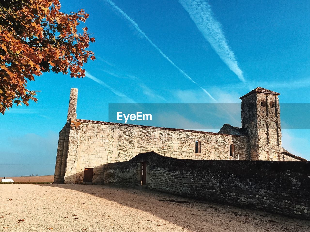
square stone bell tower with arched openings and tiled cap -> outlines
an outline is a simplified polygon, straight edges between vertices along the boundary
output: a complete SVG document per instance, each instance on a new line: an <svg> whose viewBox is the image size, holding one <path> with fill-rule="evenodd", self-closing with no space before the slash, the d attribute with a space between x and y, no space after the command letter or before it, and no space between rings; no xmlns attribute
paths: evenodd
<svg viewBox="0 0 310 232"><path fill-rule="evenodd" d="M280 160L280 93L257 87L241 99L241 123L249 135L252 160Z"/></svg>

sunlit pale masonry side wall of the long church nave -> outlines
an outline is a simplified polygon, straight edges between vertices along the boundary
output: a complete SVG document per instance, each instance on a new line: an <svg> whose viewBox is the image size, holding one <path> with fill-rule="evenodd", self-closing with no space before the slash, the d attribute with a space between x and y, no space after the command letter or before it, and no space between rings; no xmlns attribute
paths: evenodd
<svg viewBox="0 0 310 232"><path fill-rule="evenodd" d="M93 168L93 183L101 183L103 164L128 161L139 153L149 151L181 159L228 160L232 159L229 156L229 145L234 144L235 154L239 155L240 159L245 159L244 136L165 130L108 122L89 123L87 120L79 119L77 122L80 123L77 128L79 141L76 148L76 164L72 163L76 166L74 171L69 173L70 181L75 179L73 183L83 182L85 168ZM196 140L201 141L201 153L195 153Z"/></svg>

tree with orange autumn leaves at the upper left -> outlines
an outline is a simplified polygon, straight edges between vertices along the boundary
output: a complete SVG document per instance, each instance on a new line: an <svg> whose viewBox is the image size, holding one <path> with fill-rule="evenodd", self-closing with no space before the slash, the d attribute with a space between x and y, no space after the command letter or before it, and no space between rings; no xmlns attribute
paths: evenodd
<svg viewBox="0 0 310 232"><path fill-rule="evenodd" d="M66 14L58 0L0 1L0 112L16 105L37 101L27 83L43 72L85 76L83 64L95 59L86 50L90 38L84 10Z"/></svg>

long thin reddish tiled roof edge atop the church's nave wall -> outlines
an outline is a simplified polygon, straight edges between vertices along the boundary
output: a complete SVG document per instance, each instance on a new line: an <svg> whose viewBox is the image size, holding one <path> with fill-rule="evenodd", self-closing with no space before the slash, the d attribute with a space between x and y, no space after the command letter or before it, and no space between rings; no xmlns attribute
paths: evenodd
<svg viewBox="0 0 310 232"><path fill-rule="evenodd" d="M193 131L193 130L185 130L185 129L177 129L177 128L152 127L152 126L142 126L142 125L125 124L125 123L116 123L116 122L93 121L93 120L86 120L86 119L77 119L77 121L78 121L78 122L84 122L84 123L99 124L99 125L116 125L116 126L125 126L125 127L140 127L140 128L150 128L150 129L167 130L167 131L184 131L184 132L192 132L192 133L199 133L199 134L224 135L224 136L238 136L238 137L243 137L243 136L241 136L241 135L219 134L219 133L207 132L207 131Z"/></svg>

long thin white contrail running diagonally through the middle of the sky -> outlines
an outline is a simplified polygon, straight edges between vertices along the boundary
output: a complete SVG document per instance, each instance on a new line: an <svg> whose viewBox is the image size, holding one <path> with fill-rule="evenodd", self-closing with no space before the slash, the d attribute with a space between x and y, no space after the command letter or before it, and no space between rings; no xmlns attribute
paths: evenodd
<svg viewBox="0 0 310 232"><path fill-rule="evenodd" d="M206 91L206 89L202 88L200 85L198 85L190 76L188 76L182 69L180 69L174 62L172 62L172 60L170 60L169 57L166 56L166 54L164 54L162 52L161 49L159 49L148 37L147 35L139 28L139 25L133 20L131 19L124 11L122 11L121 8L119 8L118 6L116 6L114 4L114 2L112 2L111 0L104 0L106 2L108 2L115 10L117 10L119 13L121 13L134 27L135 29L141 34L143 35L148 42L160 53L162 54L162 56L164 58L166 58L166 60L168 60L175 68L177 68L179 70L180 73L182 73L184 76L186 76L190 81L192 81L194 84L196 84L199 88L201 88L203 90L203 92L205 92L213 101L216 101L214 97L211 96L211 94Z"/></svg>

